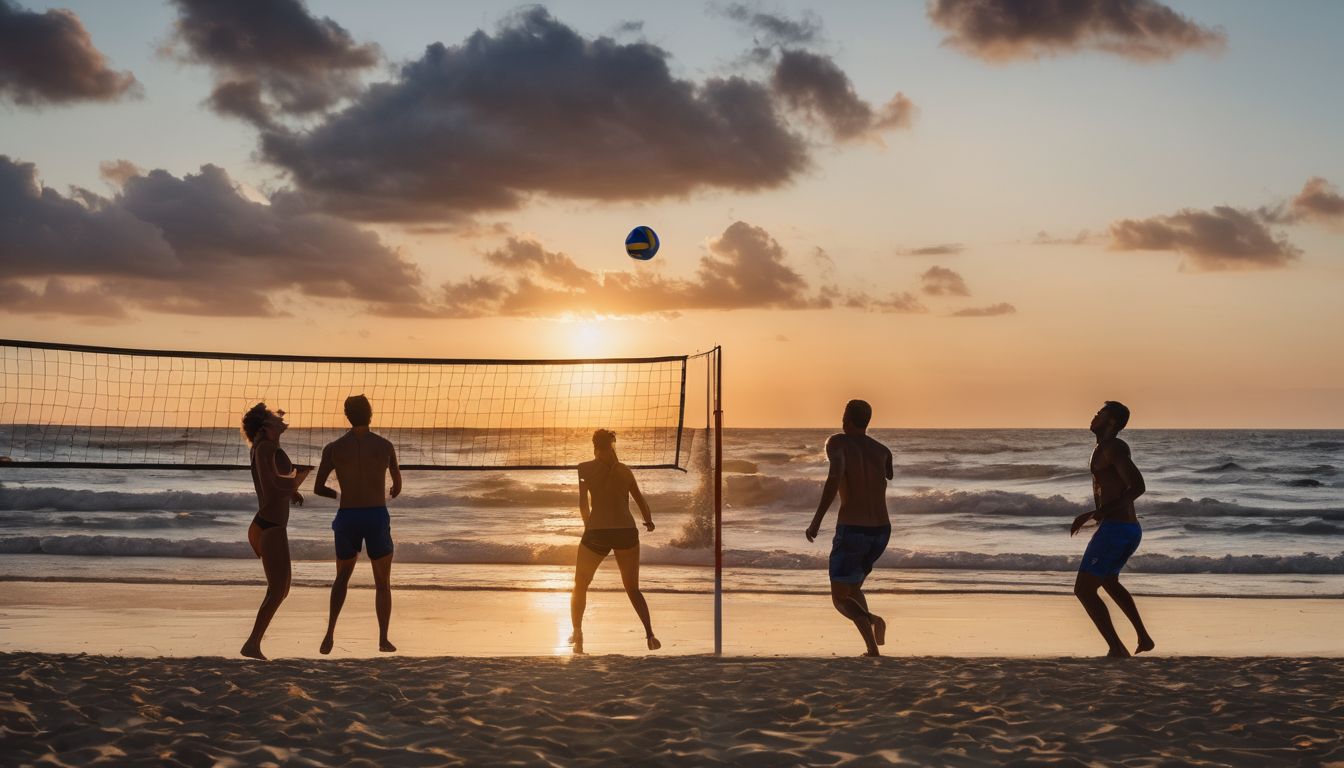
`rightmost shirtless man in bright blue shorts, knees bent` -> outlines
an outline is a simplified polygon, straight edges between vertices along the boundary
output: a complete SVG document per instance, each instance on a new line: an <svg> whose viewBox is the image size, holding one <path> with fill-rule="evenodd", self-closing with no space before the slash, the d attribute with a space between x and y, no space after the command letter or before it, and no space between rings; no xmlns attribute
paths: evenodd
<svg viewBox="0 0 1344 768"><path fill-rule="evenodd" d="M1130 624L1138 632L1138 646L1136 654L1153 650L1153 639L1144 628L1144 620L1138 616L1138 607L1134 605L1133 596L1120 584L1120 569L1125 568L1129 555L1138 549L1138 542L1144 538L1144 531L1138 526L1138 516L1134 515L1134 499L1144 495L1144 476L1134 467L1129 457L1129 445L1117 437L1121 429L1129 424L1129 409L1124 405L1106 401L1097 416L1093 417L1090 429L1097 436L1097 449L1093 451L1093 499L1097 508L1074 518L1074 525L1068 535L1074 535L1087 525L1097 521L1097 531L1087 542L1083 561L1078 566L1078 580L1074 582L1074 594L1087 609L1087 616L1101 636L1110 646L1107 656L1128 656L1129 651L1121 644L1116 633L1116 625L1110 621L1110 611L1102 603L1097 589L1105 589L1106 594L1116 601L1116 605L1125 613Z"/></svg>

